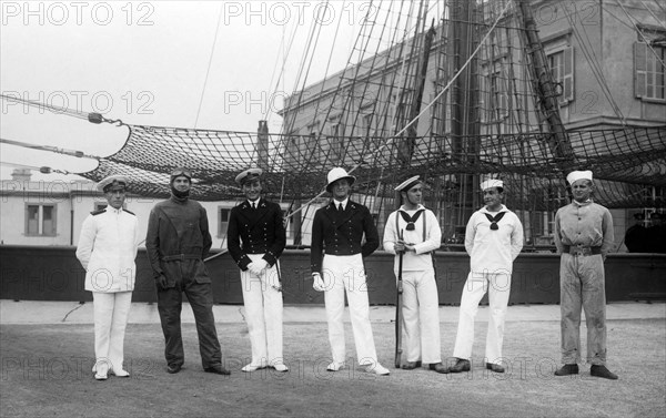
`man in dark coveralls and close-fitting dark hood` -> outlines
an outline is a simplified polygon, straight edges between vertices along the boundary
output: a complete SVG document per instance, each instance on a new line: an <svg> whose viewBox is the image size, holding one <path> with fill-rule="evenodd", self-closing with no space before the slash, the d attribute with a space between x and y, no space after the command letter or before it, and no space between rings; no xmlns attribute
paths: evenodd
<svg viewBox="0 0 666 418"><path fill-rule="evenodd" d="M167 371L179 373L184 363L181 336L182 293L194 313L203 369L229 375L222 366L222 353L215 318L213 290L203 264L212 245L206 212L192 201L192 173L175 169L171 173L171 198L159 202L150 213L145 249L158 287L158 310L164 333Z"/></svg>

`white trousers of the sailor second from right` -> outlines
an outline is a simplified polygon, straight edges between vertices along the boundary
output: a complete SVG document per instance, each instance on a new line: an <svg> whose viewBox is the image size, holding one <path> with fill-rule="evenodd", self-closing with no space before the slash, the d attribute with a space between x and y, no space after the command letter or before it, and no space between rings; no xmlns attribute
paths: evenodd
<svg viewBox="0 0 666 418"><path fill-rule="evenodd" d="M467 275L461 298L458 329L453 356L466 360L472 358L474 318L478 312L478 303L486 292L488 293L491 312L488 315L485 358L487 363L501 364L504 319L511 294L511 275L507 273L470 272Z"/></svg>

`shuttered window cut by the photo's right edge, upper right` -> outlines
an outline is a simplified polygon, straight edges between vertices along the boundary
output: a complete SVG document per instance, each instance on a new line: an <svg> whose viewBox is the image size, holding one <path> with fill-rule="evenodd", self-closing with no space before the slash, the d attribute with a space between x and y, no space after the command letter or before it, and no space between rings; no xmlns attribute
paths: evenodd
<svg viewBox="0 0 666 418"><path fill-rule="evenodd" d="M666 48L647 45L644 42L634 44L634 91L636 98L648 100L665 100Z"/></svg>

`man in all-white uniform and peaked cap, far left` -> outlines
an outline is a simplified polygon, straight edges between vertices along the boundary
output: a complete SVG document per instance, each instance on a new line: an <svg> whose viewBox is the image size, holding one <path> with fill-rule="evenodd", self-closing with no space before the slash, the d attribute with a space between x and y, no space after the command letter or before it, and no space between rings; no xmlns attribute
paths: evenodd
<svg viewBox="0 0 666 418"><path fill-rule="evenodd" d="M92 212L81 228L77 258L85 268L85 290L92 292L94 315L94 378L105 380L123 369L124 333L132 303L139 246L137 216L122 207L128 179L113 175L98 190L109 205Z"/></svg>

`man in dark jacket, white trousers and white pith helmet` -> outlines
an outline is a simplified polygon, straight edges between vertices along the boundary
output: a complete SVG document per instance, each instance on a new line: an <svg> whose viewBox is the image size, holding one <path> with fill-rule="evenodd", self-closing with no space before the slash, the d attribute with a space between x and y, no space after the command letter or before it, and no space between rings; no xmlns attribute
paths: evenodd
<svg viewBox="0 0 666 418"><path fill-rule="evenodd" d="M329 341L333 355L333 361L326 369L337 371L345 366L342 315L346 292L359 364L366 366L369 373L389 375L389 369L377 361L363 266L363 257L380 246L380 236L367 207L350 200L355 180L344 169L331 170L326 191L333 194L333 200L316 211L312 223L310 261L313 288L325 290ZM363 236L365 244L362 244Z"/></svg>

